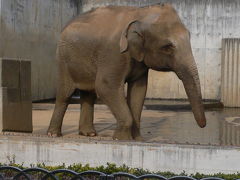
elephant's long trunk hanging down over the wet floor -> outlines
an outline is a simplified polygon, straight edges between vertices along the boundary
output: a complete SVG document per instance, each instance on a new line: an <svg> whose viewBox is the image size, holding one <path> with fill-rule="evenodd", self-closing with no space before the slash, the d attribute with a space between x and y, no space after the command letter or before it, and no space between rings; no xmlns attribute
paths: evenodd
<svg viewBox="0 0 240 180"><path fill-rule="evenodd" d="M206 117L202 103L198 70L195 61L191 60L190 62L190 66L182 68L179 72L176 73L183 82L197 124L201 128L204 128L206 126Z"/></svg>

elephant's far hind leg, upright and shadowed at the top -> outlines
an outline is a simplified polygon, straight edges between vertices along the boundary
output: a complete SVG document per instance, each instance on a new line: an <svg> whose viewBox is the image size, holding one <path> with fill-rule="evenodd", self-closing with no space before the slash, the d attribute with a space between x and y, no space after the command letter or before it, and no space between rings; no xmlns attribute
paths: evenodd
<svg viewBox="0 0 240 180"><path fill-rule="evenodd" d="M93 127L94 102L96 94L93 92L81 91L81 114L79 121L79 134L84 136L96 136Z"/></svg>

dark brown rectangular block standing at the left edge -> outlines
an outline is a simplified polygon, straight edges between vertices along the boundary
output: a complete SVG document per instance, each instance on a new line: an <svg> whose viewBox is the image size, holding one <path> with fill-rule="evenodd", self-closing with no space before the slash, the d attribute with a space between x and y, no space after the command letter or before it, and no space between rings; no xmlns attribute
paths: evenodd
<svg viewBox="0 0 240 180"><path fill-rule="evenodd" d="M31 63L0 59L0 131L32 132Z"/></svg>

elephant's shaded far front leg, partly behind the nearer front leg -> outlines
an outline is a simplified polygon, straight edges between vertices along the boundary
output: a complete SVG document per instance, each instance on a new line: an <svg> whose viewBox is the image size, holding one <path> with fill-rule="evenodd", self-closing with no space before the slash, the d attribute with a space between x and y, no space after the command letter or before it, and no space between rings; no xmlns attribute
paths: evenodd
<svg viewBox="0 0 240 180"><path fill-rule="evenodd" d="M127 103L133 116L132 136L138 141L142 140L140 133L140 119L144 98L147 92L147 80L148 73L140 79L128 83Z"/></svg>

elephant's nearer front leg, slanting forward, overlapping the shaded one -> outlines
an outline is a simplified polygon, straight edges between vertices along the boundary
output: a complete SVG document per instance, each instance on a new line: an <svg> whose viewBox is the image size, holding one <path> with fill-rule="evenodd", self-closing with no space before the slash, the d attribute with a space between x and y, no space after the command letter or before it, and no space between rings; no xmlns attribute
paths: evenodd
<svg viewBox="0 0 240 180"><path fill-rule="evenodd" d="M108 85L106 81L96 83L96 91L100 99L108 105L117 119L117 128L113 138L116 140L132 140L132 115L124 95L124 83Z"/></svg>

